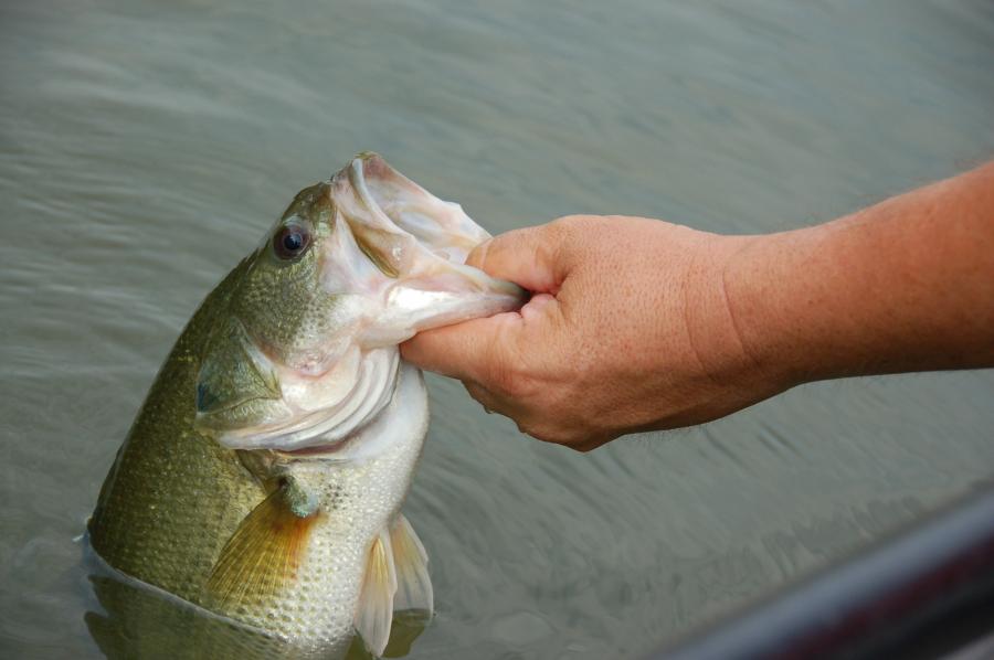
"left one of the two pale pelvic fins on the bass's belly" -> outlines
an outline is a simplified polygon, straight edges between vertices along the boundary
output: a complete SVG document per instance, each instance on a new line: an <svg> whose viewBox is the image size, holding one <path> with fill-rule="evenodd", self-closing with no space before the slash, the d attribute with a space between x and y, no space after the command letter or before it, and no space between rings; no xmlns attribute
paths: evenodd
<svg viewBox="0 0 994 660"><path fill-rule="evenodd" d="M369 546L366 576L362 579L362 592L353 619L356 630L362 637L366 647L377 657L383 654L390 639L394 593L396 593L396 573L393 567L393 552L390 549L390 534L384 529Z"/></svg>

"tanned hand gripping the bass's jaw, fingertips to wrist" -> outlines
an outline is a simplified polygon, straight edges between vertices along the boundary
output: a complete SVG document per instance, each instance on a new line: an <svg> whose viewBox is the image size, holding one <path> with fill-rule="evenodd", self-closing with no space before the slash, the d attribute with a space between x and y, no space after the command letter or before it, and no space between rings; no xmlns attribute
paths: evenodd
<svg viewBox="0 0 994 660"><path fill-rule="evenodd" d="M641 217L569 216L497 236L467 263L533 292L519 312L422 332L414 364L579 450L715 419L789 387L742 345L723 268L752 241Z"/></svg>

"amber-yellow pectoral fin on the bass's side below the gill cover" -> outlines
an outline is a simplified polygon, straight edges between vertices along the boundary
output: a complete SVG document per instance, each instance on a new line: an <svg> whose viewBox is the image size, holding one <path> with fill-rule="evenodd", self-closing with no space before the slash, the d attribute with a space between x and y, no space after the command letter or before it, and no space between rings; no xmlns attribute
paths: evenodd
<svg viewBox="0 0 994 660"><path fill-rule="evenodd" d="M209 602L231 608L278 594L294 579L320 515L297 515L287 486L274 490L231 535L208 579Z"/></svg>

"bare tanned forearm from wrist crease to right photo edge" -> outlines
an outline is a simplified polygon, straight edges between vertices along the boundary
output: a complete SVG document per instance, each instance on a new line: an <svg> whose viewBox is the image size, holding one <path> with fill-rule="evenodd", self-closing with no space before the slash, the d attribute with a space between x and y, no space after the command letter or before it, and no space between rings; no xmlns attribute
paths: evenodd
<svg viewBox="0 0 994 660"><path fill-rule="evenodd" d="M791 384L994 366L994 163L750 241L723 275L744 351Z"/></svg>

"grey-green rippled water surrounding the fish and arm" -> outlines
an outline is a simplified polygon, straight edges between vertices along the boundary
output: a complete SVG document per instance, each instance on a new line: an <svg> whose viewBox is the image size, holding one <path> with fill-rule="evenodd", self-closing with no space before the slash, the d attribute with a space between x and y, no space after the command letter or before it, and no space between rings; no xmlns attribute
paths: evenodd
<svg viewBox="0 0 994 660"><path fill-rule="evenodd" d="M994 152L981 0L22 0L0 61L11 658L101 657L73 539L145 391L353 152L495 233L572 212L775 231ZM412 657L637 657L994 476L990 371L808 385L591 455L430 384L405 511L437 616Z"/></svg>

